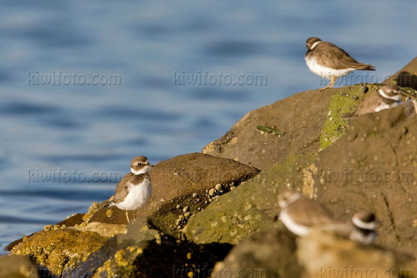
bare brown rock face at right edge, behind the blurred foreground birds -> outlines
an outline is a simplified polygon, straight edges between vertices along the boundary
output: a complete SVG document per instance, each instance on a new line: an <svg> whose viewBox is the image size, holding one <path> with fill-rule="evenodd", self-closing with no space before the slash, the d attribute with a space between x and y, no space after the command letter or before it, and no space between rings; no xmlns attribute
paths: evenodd
<svg viewBox="0 0 417 278"><path fill-rule="evenodd" d="M415 252L417 114L401 105L352 119L345 136L318 156L316 199L336 218L373 211L377 243Z"/></svg>

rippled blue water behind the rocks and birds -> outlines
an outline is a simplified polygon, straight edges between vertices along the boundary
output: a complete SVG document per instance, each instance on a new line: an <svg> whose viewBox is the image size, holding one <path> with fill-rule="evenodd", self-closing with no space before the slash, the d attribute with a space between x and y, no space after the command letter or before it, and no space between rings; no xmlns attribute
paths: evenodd
<svg viewBox="0 0 417 278"><path fill-rule="evenodd" d="M375 77L416 56L414 0L0 1L0 248L110 197L116 181L32 171L129 171L199 152L245 113L322 87L305 40L332 41ZM174 72L264 74L266 85L174 85ZM117 74L120 85L33 85L30 74ZM349 83L349 82L348 82Z"/></svg>

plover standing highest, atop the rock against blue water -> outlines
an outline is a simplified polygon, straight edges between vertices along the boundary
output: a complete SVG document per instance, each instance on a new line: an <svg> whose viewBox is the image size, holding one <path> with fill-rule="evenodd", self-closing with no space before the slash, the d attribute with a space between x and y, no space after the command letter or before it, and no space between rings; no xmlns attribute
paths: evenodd
<svg viewBox="0 0 417 278"><path fill-rule="evenodd" d="M359 63L346 51L330 42L311 37L306 40L305 55L307 67L322 79L329 79L326 88L332 88L339 77L350 74L354 70L375 70L372 65Z"/></svg>

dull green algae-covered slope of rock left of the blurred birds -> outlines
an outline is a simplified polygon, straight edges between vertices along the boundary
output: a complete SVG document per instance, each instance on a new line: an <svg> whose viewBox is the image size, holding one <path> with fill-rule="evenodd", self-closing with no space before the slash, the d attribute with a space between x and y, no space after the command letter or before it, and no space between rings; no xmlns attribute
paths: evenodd
<svg viewBox="0 0 417 278"><path fill-rule="evenodd" d="M315 159L313 154L292 156L261 172L193 215L186 234L199 244L237 244L256 231L277 225L277 195L288 187L303 190L306 172L302 169L308 168Z"/></svg>

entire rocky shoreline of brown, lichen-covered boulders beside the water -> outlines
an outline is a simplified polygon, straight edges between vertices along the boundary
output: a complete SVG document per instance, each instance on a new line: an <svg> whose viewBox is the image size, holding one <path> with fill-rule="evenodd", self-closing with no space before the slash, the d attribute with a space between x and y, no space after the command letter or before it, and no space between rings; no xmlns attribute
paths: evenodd
<svg viewBox="0 0 417 278"><path fill-rule="evenodd" d="M416 99L416 75L414 58L383 84ZM415 277L414 106L341 117L381 86L300 92L247 113L202 153L155 165L152 200L131 222L111 199L94 203L10 243L0 277ZM287 188L340 220L373 211L375 245L324 232L295 238L278 219Z"/></svg>

